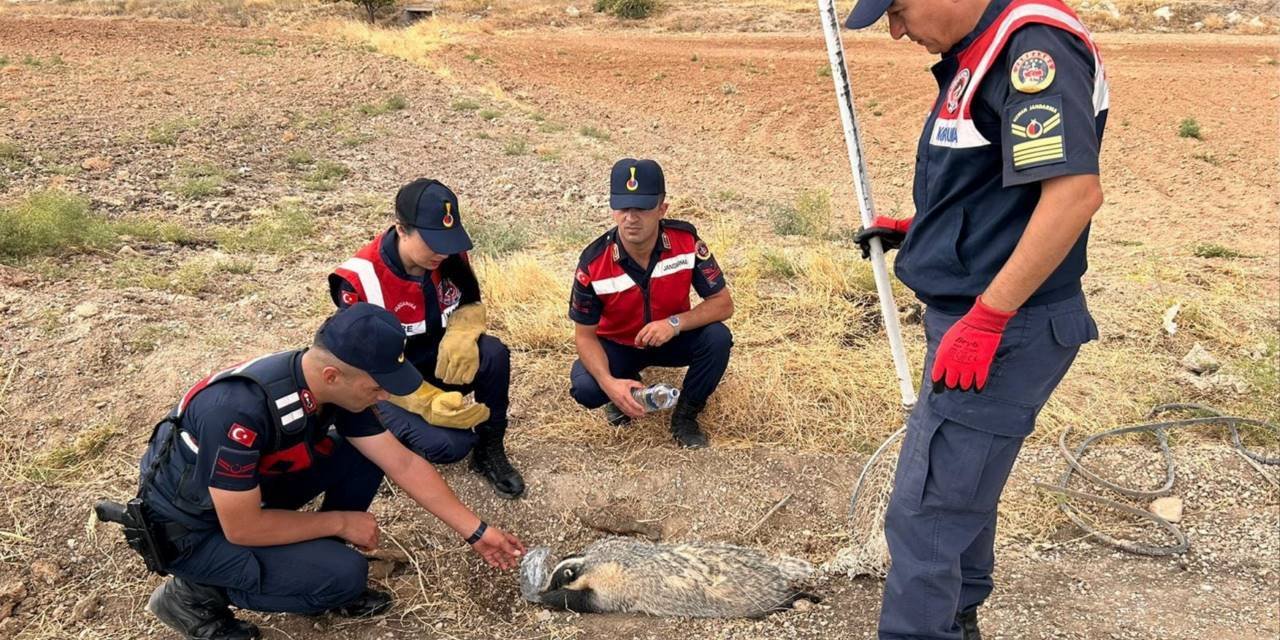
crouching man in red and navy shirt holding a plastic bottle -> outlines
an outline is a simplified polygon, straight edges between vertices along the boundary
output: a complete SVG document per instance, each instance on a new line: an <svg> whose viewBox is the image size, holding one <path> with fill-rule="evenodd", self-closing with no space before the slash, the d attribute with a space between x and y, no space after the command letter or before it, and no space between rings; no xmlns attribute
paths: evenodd
<svg viewBox="0 0 1280 640"><path fill-rule="evenodd" d="M716 390L733 337L724 320L733 300L724 274L694 225L666 220L667 186L653 160L618 160L609 177L617 227L582 251L568 317L579 360L570 393L588 408L604 404L611 425L644 408L631 397L650 366L687 366L671 433L687 448L707 447L698 413ZM690 287L703 298L690 308Z"/></svg>

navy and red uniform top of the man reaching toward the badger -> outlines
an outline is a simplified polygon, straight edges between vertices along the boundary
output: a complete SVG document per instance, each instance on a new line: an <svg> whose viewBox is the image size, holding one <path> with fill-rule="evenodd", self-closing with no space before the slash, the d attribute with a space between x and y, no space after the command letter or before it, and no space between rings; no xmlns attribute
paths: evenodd
<svg viewBox="0 0 1280 640"><path fill-rule="evenodd" d="M196 477L207 479L209 488L247 492L264 480L306 471L320 457L333 453L337 444L330 431L343 438L378 435L385 429L372 410L352 413L333 404L319 407L310 397L302 376L301 358L294 365L294 380L302 398L301 429L285 434L274 424L268 410L266 392L243 378L219 380L187 403L182 431L173 454L195 456ZM276 438L280 442L276 442ZM206 497L201 497L207 499ZM216 513L207 512L216 522Z"/></svg>

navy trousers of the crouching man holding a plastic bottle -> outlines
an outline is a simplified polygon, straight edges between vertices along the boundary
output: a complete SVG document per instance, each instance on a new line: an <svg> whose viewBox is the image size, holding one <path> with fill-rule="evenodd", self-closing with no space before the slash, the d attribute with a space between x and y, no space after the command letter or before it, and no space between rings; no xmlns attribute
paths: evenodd
<svg viewBox="0 0 1280 640"><path fill-rule="evenodd" d="M733 347L733 335L724 323L712 323L698 329L681 332L662 347L637 348L602 339L604 355L609 358L609 374L614 378L640 379L640 371L650 366L687 366L680 399L692 407L703 407L707 398L724 376L728 367L728 352ZM570 396L586 408L603 407L609 402L600 384L582 366L581 360L573 361L570 370Z"/></svg>

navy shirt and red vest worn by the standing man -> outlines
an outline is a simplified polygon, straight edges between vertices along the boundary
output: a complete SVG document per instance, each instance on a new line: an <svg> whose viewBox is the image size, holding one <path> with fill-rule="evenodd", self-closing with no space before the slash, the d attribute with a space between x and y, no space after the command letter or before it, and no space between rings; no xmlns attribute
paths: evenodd
<svg viewBox="0 0 1280 640"><path fill-rule="evenodd" d="M1098 49L1060 0L993 0L933 74L895 273L924 303L959 314L1014 252L1041 180L1098 173L1110 100ZM1088 229L1028 305L1080 291L1087 242Z"/></svg>

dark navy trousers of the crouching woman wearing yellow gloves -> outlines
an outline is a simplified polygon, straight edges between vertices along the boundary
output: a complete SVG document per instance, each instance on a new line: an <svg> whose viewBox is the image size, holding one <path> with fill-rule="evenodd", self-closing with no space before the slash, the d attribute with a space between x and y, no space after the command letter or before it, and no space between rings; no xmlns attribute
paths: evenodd
<svg viewBox="0 0 1280 640"><path fill-rule="evenodd" d="M410 451L422 456L429 462L448 465L457 462L471 452L476 443L476 433L493 430L497 434L507 431L507 406L511 390L511 351L493 335L480 335L480 367L468 384L444 384L435 378L436 349L422 353L415 362L428 384L447 392L460 392L463 396L475 392L475 401L489 407L489 420L471 429L448 429L428 422L422 416L406 411L390 402L379 402L378 417L388 431L396 435ZM439 344L436 344L439 347Z"/></svg>

